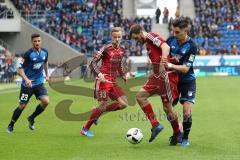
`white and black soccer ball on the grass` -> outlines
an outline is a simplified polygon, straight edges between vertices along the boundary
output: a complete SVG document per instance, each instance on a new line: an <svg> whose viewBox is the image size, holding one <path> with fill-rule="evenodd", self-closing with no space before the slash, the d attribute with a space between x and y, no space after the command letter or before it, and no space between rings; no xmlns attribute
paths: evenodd
<svg viewBox="0 0 240 160"><path fill-rule="evenodd" d="M138 128L131 128L127 131L126 138L132 144L138 144L143 139L143 134Z"/></svg>

